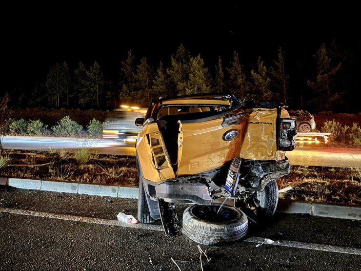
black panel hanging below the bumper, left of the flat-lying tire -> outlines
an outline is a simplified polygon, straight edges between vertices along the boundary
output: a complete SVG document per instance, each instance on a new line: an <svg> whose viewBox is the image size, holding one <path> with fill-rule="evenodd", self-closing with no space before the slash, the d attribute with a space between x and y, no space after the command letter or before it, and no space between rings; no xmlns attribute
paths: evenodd
<svg viewBox="0 0 361 271"><path fill-rule="evenodd" d="M158 207L165 235L167 237L176 237L181 235L180 222L178 220L174 203L165 202L160 199L158 201Z"/></svg>

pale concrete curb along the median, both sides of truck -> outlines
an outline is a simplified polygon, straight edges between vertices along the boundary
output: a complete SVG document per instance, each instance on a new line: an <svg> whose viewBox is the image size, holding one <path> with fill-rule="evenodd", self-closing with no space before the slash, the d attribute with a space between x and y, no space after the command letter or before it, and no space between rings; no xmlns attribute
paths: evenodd
<svg viewBox="0 0 361 271"><path fill-rule="evenodd" d="M118 198L138 198L138 188L123 186L102 186L45 180L30 180L0 177L0 185L22 189L108 196ZM278 212L306 213L314 216L361 220L361 207L330 205L313 202L279 200Z"/></svg>

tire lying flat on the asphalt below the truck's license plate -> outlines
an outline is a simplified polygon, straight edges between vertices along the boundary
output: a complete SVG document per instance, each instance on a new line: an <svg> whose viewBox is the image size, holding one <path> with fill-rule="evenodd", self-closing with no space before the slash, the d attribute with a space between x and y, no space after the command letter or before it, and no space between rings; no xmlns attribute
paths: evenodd
<svg viewBox="0 0 361 271"><path fill-rule="evenodd" d="M221 204L192 205L183 212L182 232L202 245L221 245L244 237L248 219L240 209Z"/></svg>

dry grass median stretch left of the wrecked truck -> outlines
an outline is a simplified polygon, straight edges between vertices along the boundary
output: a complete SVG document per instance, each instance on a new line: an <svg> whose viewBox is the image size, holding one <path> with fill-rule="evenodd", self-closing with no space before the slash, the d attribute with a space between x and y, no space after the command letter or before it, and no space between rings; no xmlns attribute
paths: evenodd
<svg viewBox="0 0 361 271"><path fill-rule="evenodd" d="M135 157L90 155L89 152L5 149L0 176L104 185L138 185ZM66 154L66 155L65 155ZM83 160L81 160L83 159ZM7 167L11 163L12 166Z"/></svg>

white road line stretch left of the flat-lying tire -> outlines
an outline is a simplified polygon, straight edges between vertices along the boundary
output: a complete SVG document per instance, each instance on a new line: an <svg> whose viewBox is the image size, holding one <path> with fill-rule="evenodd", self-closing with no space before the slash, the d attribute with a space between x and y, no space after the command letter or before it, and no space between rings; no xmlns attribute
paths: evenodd
<svg viewBox="0 0 361 271"><path fill-rule="evenodd" d="M133 228L133 229L150 229L150 230L163 231L163 227L159 226L159 225L140 224L140 223L139 224L128 224L128 223L120 222L118 220L101 219L101 218L94 218L94 217L84 217L84 216L48 213L48 212L22 210L22 209L15 209L15 208L4 208L4 207L0 207L0 212L47 217L47 218L56 218L56 219L62 219L62 220L71 220L71 221L77 221L77 222L86 222L86 223L126 227L126 228Z"/></svg>

